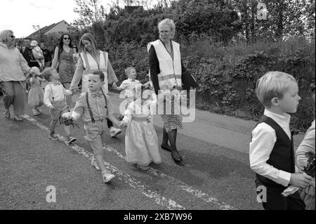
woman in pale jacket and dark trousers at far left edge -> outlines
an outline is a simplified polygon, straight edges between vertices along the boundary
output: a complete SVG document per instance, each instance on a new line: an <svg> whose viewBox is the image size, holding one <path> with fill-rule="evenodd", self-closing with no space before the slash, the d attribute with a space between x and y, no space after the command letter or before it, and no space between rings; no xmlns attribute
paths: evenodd
<svg viewBox="0 0 316 224"><path fill-rule="evenodd" d="M0 32L0 86L4 91L4 117L10 119L13 105L13 119L22 121L25 111L25 74L31 72L27 61L14 46L11 30Z"/></svg>

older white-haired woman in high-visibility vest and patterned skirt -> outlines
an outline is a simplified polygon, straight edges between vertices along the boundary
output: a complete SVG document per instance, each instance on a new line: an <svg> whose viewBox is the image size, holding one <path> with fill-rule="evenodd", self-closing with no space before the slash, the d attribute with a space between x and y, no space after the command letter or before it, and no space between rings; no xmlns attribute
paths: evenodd
<svg viewBox="0 0 316 224"><path fill-rule="evenodd" d="M149 53L150 79L157 95L160 91L180 90L182 87L182 74L185 67L181 62L180 45L172 40L176 25L168 18L159 22L159 39L151 42L147 46ZM170 100L171 99L171 100ZM164 132L162 139L162 149L171 152L171 157L175 162L181 162L176 147L178 129L183 129L182 118L175 114L174 96L164 99L164 112L162 120L164 122ZM171 108L170 108L171 107ZM167 111L171 111L171 114ZM170 145L168 144L170 142Z"/></svg>

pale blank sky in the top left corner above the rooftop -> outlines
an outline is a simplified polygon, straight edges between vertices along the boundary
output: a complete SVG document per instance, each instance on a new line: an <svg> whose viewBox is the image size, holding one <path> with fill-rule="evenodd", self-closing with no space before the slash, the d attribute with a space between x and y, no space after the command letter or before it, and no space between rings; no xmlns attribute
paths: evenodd
<svg viewBox="0 0 316 224"><path fill-rule="evenodd" d="M109 6L112 0L102 0ZM33 25L46 27L61 20L68 23L78 18L74 0L1 0L0 30L11 29L15 37L32 34Z"/></svg>

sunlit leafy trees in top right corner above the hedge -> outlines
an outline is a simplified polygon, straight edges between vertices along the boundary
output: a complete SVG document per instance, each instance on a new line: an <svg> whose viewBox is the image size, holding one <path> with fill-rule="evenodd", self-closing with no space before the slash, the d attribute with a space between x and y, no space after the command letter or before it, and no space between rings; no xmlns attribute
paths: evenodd
<svg viewBox="0 0 316 224"><path fill-rule="evenodd" d="M240 0L231 1L242 22L242 37L247 43L256 39L282 40L286 37L315 37L314 0ZM259 20L256 6L265 4L268 17ZM314 5L313 5L314 4Z"/></svg>

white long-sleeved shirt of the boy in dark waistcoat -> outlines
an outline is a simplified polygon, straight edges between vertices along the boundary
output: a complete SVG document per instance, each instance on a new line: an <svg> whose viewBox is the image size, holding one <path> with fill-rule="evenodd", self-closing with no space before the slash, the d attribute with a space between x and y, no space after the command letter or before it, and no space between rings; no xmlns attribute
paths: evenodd
<svg viewBox="0 0 316 224"><path fill-rule="evenodd" d="M277 122L291 140L291 131L289 129L291 116L289 114L284 113L279 115L270 112L267 109L265 109L264 114ZM291 179L291 173L276 169L270 164L267 164L276 141L277 135L275 129L272 129L271 126L264 122L258 124L254 131L252 131L252 139L249 144L250 166L251 169L259 175L287 187L287 185L289 185L289 180Z"/></svg>

